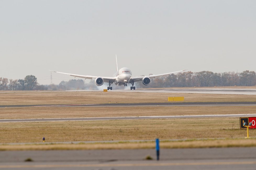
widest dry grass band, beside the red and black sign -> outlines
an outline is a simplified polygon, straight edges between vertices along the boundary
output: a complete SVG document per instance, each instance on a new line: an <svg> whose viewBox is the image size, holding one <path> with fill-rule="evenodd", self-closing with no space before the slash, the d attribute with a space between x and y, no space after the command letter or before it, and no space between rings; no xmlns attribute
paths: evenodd
<svg viewBox="0 0 256 170"><path fill-rule="evenodd" d="M1 123L0 136L1 143L245 137L239 125L239 118Z"/></svg>

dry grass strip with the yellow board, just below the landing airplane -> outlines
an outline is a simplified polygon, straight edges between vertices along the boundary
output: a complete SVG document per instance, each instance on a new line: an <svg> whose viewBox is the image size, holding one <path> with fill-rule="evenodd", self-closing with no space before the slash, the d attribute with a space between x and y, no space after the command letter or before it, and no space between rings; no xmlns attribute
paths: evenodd
<svg viewBox="0 0 256 170"><path fill-rule="evenodd" d="M143 92L24 92L0 93L0 105L104 104L168 102L184 96L185 102L256 101L255 95L143 93Z"/></svg>

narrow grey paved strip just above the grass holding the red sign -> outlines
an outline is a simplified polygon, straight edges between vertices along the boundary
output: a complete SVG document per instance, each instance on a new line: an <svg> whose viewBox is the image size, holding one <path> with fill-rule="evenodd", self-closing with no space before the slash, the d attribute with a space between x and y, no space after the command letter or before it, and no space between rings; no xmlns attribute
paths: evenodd
<svg viewBox="0 0 256 170"><path fill-rule="evenodd" d="M88 117L88 118L45 118L45 119L0 119L0 123L7 122L63 122L63 121L96 121L96 120L139 120L139 119L179 119L179 118L207 118L207 117L256 117L256 114L216 114L191 116L131 116L131 117Z"/></svg>

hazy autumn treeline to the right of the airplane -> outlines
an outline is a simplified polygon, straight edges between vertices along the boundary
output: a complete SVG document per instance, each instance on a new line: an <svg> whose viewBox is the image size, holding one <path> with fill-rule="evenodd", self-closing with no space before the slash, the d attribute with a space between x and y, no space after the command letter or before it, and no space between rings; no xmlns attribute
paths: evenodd
<svg viewBox="0 0 256 170"><path fill-rule="evenodd" d="M179 72L167 77L154 78L146 88L157 87L213 87L213 86L254 86L254 71L214 73L212 71ZM136 84L138 88L142 84ZM145 86L144 86L145 87Z"/></svg>

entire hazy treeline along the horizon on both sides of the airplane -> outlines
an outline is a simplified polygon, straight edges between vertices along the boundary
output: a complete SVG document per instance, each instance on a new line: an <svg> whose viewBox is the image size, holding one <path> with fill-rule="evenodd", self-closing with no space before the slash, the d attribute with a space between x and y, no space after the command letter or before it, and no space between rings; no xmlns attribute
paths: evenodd
<svg viewBox="0 0 256 170"><path fill-rule="evenodd" d="M254 86L256 74L254 71L213 73L211 71L180 72L169 76L153 78L148 86L142 82L136 82L136 88L160 88L160 87L213 87L213 86ZM107 83L103 86L107 87ZM113 85L114 86L114 85ZM102 88L102 87L99 87ZM115 86L114 89L118 89ZM123 88L121 86L120 88ZM94 81L85 83L84 80L62 81L58 85L39 85L37 78L28 75L24 79L8 80L0 77L0 90L97 90Z"/></svg>

